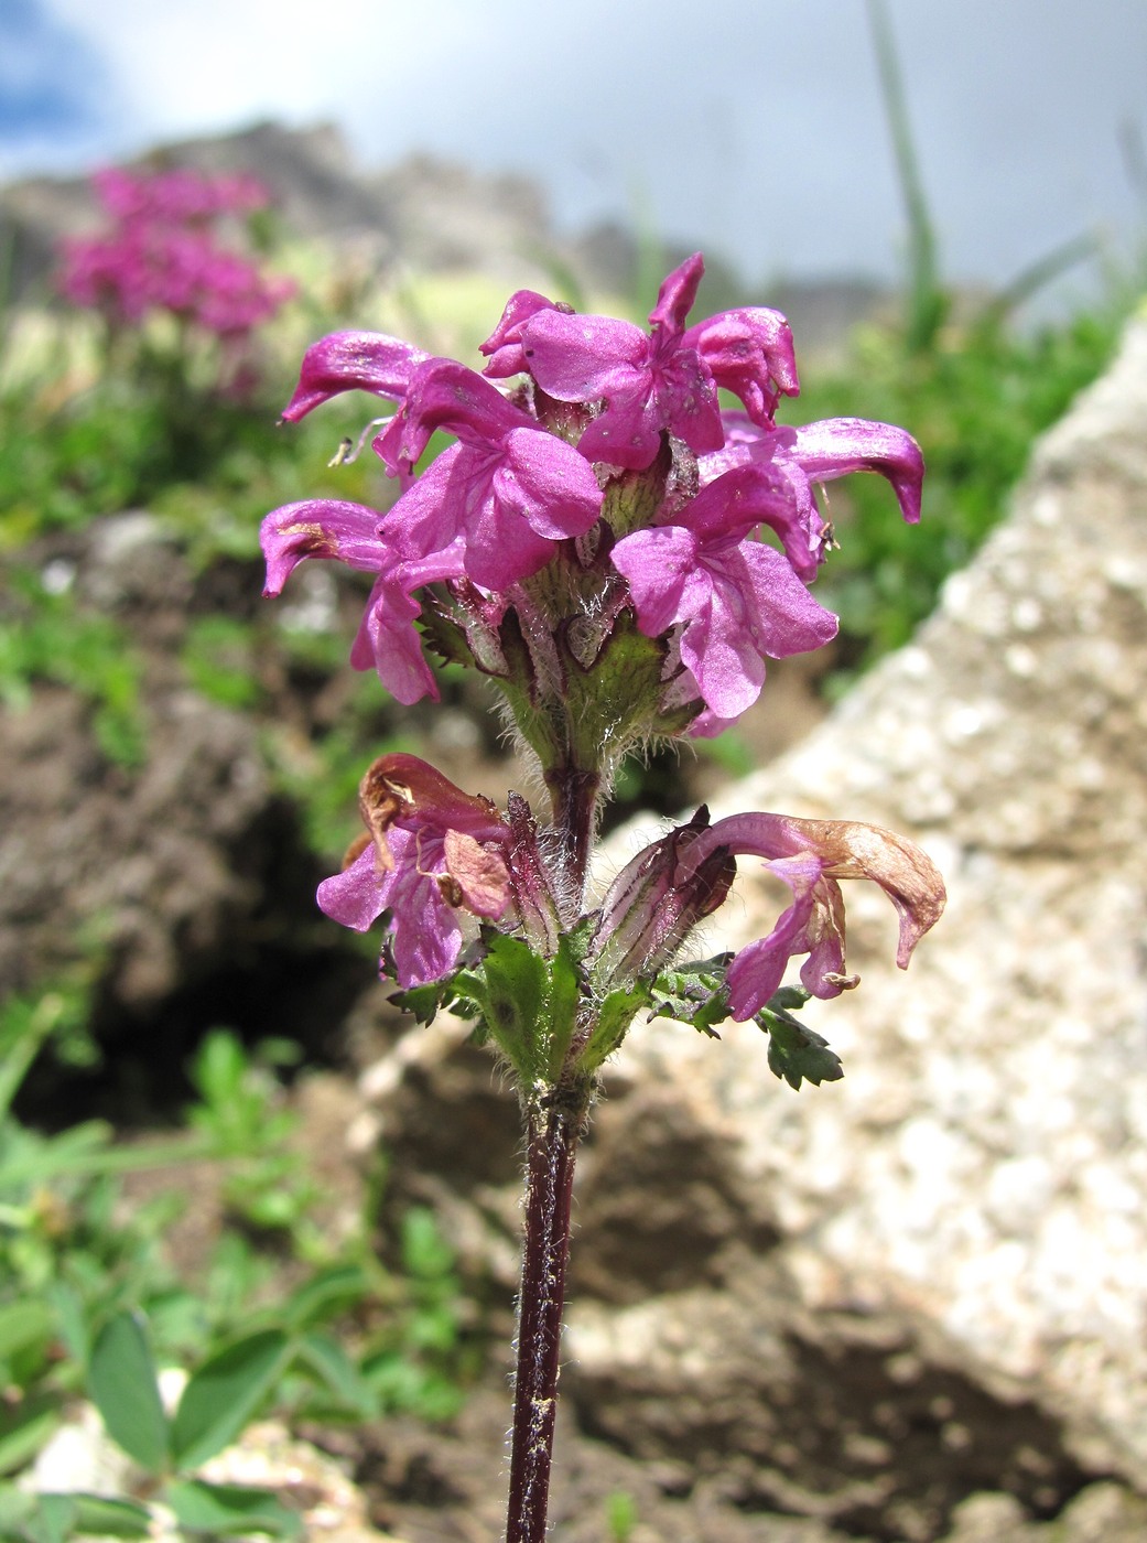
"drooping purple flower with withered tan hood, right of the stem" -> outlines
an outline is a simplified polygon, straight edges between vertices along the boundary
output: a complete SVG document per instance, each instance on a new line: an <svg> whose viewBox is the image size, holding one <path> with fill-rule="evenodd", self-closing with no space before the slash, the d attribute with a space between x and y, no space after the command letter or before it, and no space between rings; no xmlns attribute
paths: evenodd
<svg viewBox="0 0 1147 1543"><path fill-rule="evenodd" d="M729 964L729 1004L740 1020L760 1012L797 954L808 955L800 978L814 997L837 997L857 984L857 977L845 974L845 901L837 880L870 878L888 895L900 920L900 969L908 967L913 949L939 921L947 900L944 880L927 852L906 836L859 821L731 815L683 852L674 883L688 884L694 867L714 850L763 858L792 890L792 904L772 932L742 949Z"/></svg>

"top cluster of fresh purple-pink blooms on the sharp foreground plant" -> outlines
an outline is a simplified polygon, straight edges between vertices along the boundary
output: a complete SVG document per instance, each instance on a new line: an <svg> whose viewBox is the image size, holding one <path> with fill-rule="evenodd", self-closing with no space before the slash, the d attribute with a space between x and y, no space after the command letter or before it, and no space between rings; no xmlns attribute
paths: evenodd
<svg viewBox="0 0 1147 1543"><path fill-rule="evenodd" d="M694 256L669 275L649 332L523 290L483 344L484 375L378 333L314 344L284 417L352 389L396 403L373 447L405 492L385 514L333 501L274 511L267 593L304 557L373 572L353 662L373 662L407 704L436 696L415 625L430 585L446 586L438 603L493 674L487 634L515 609L530 636L543 593L547 623L580 616L584 631L587 616L627 611L664 650L666 722L648 728L675 731L668 714L684 704L692 734L738 717L766 657L819 648L837 628L808 591L831 545L814 486L877 471L914 522L923 463L888 424L777 426L779 398L799 389L788 322L746 307L686 329L701 268ZM509 392L492 383L510 375ZM718 387L743 410L723 410ZM438 429L456 443L415 480Z"/></svg>

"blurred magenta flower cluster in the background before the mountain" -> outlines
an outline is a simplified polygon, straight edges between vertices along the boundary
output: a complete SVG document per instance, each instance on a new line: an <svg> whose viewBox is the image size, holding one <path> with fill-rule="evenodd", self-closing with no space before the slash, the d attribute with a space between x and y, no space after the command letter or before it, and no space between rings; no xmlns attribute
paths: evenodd
<svg viewBox="0 0 1147 1543"><path fill-rule="evenodd" d="M92 182L113 225L108 235L63 245L59 284L74 304L116 326L166 312L236 343L294 293L290 279L264 275L216 231L222 218L267 205L254 177L111 168Z"/></svg>

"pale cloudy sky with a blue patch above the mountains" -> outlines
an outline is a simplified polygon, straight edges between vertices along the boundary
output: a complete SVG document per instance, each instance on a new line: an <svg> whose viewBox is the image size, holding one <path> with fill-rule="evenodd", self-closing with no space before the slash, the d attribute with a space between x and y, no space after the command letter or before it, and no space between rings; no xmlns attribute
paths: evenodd
<svg viewBox="0 0 1147 1543"><path fill-rule="evenodd" d="M1147 0L886 0L942 272L1147 231ZM745 278L902 270L866 0L0 0L0 179L274 117L524 171ZM1139 147L1136 151L1132 147Z"/></svg>

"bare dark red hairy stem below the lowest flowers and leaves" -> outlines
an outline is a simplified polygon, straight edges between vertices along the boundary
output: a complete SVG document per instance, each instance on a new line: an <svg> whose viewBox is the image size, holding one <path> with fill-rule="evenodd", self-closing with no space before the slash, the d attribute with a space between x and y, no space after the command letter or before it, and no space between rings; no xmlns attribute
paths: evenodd
<svg viewBox="0 0 1147 1543"><path fill-rule="evenodd" d="M532 1109L527 1117L526 1248L518 1298L506 1543L543 1543L546 1537L569 1205L583 1120L584 1105L578 1109L552 1105Z"/></svg>

